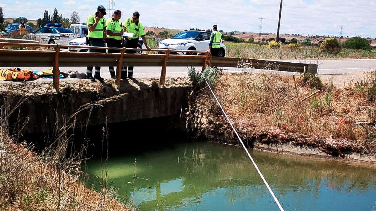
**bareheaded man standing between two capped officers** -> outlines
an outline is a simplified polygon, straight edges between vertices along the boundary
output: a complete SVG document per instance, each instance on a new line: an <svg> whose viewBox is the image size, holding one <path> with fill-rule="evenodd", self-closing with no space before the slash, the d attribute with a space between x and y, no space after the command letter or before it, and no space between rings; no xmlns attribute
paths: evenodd
<svg viewBox="0 0 376 211"><path fill-rule="evenodd" d="M114 15L107 19L107 37L106 43L109 48L121 48L121 35L123 35L123 25L120 21L121 11L115 10ZM108 50L108 53L120 53L120 50ZM115 78L115 70L113 66L108 67L111 78Z"/></svg>

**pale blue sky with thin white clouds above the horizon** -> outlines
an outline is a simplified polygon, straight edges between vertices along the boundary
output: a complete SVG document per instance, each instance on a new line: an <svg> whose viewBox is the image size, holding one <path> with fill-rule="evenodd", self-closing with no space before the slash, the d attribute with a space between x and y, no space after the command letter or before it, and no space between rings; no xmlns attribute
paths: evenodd
<svg viewBox="0 0 376 211"><path fill-rule="evenodd" d="M77 11L82 22L98 5L108 8L107 0L0 0L7 18L19 16L35 20L48 9L57 8L64 17ZM114 0L123 12L122 20L139 11L144 26L171 29L211 28L218 24L225 31L258 32L264 17L263 32L276 32L280 0ZM376 38L375 0L284 0L281 34L339 35Z"/></svg>

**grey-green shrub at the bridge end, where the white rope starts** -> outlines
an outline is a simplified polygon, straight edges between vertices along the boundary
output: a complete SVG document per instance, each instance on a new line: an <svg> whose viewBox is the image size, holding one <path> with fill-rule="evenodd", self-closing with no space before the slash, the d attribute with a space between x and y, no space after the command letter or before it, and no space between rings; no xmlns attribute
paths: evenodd
<svg viewBox="0 0 376 211"><path fill-rule="evenodd" d="M208 81L209 85L213 87L215 83L217 83L218 76L220 75L221 72L222 70L216 67L209 67L209 66L207 66L203 72L196 71L194 67L188 68L188 76L190 77L193 89L195 91L199 89L203 89L206 86L204 76L206 80Z"/></svg>

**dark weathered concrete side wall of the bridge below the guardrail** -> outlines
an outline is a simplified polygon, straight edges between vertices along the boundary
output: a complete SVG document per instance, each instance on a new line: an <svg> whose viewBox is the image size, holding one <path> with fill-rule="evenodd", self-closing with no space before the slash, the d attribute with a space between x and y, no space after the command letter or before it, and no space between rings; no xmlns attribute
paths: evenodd
<svg viewBox="0 0 376 211"><path fill-rule="evenodd" d="M64 123L63 119L80 110L80 107L81 112L75 118L76 128L85 127L86 124L103 125L106 119L110 124L180 115L187 107L191 87L186 81L165 87L155 81L149 82L126 81L119 89L112 84L105 84L100 85L100 89L89 91L63 84L60 93L39 93L29 97L3 93L3 96L11 96L12 104L18 99L26 99L20 112L14 112L10 120L11 127L20 128L18 130L22 134L56 130ZM82 110L85 104L88 109ZM56 127L56 124L59 126Z"/></svg>

